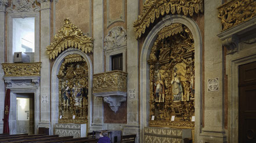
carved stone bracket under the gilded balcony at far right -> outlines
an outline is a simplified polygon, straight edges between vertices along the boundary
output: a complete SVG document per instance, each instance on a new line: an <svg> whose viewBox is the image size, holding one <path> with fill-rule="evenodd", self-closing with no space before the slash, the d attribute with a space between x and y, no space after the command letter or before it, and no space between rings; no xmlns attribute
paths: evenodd
<svg viewBox="0 0 256 143"><path fill-rule="evenodd" d="M222 39L222 44L227 48L227 54L233 54L238 51L239 37L232 35Z"/></svg>

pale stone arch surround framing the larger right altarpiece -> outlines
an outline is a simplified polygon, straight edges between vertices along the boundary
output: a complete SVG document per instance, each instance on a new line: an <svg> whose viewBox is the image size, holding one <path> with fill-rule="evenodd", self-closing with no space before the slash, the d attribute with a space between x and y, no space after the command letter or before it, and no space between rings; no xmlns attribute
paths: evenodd
<svg viewBox="0 0 256 143"><path fill-rule="evenodd" d="M140 137L141 142L143 142L144 127L149 126L149 60L150 52L152 51L153 44L157 39L157 33L161 31L165 26L171 25L172 23L181 23L188 27L192 32L194 37L194 109L195 109L195 141L197 141L197 136L201 132L201 59L202 59L202 39L199 27L192 18L188 18L182 15L167 15L158 22L146 36L146 39L142 46L142 51L140 54Z"/></svg>

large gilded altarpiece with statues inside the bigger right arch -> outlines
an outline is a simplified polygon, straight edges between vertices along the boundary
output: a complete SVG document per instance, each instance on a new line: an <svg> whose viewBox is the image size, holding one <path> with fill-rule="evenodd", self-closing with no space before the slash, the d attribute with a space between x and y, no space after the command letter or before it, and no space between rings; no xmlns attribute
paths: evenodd
<svg viewBox="0 0 256 143"><path fill-rule="evenodd" d="M161 29L147 62L149 126L193 129L194 40L190 30L179 23Z"/></svg>

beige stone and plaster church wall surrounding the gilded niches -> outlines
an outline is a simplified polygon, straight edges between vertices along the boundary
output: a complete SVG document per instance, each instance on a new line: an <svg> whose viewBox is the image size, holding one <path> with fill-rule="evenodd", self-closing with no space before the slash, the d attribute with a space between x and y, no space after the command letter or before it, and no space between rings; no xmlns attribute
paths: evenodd
<svg viewBox="0 0 256 143"><path fill-rule="evenodd" d="M3 0L5 1L5 0ZM26 1L26 0L23 0ZM147 0L146 0L147 1ZM12 62L9 53L9 18L12 14L5 12L11 1L0 1L0 63ZM9 2L9 3L8 3ZM35 131L37 127L49 127L54 134L55 123L59 118L58 78L59 67L63 58L70 53L78 53L86 59L89 67L89 105L88 132L93 130L122 130L123 134L137 134L136 142L143 142L144 127L150 121L150 51L152 50L157 33L165 26L179 22L190 29L195 43L195 118L192 129L196 142L238 142L238 72L239 65L256 61L256 44L253 32L236 33L239 36L237 52L229 54L225 43L218 37L223 33L222 21L219 19L218 7L229 0L204 0L204 12L193 16L182 14L165 14L150 23L142 37L135 39L134 22L143 13L143 0L54 0L37 2L40 10L37 12L38 44L36 62L42 62L40 84L35 94ZM17 12L13 16L27 16L30 12ZM161 15L161 14L160 14ZM93 52L84 53L75 48L68 48L56 59L49 59L46 47L55 40L55 34L62 28L64 18L68 18L84 35L93 38ZM245 25L244 27L247 27ZM254 26L251 26L254 27ZM110 37L114 28L125 31L125 44L106 54L109 47L106 37ZM238 30L237 30L238 31ZM224 32L225 33L225 32ZM249 36L248 36L249 35ZM118 37L120 35L116 35ZM112 37L115 39L115 37ZM116 40L116 39L115 39ZM117 42L115 41L114 42ZM123 45L122 45L123 44ZM122 47L124 46L124 48ZM113 46L114 47L114 46ZM110 47L110 48L113 48ZM118 46L116 46L118 47ZM115 48L116 48L115 47ZM124 49L124 50L123 50ZM103 97L93 95L93 74L110 71L111 55L123 54L124 71L127 75L127 97L121 103L117 112L104 103ZM0 65L0 77L5 74ZM214 89L212 82L217 81ZM7 82L6 82L7 84ZM5 80L0 79L0 119L3 118ZM20 88L20 87L19 87ZM24 88L24 87L21 87ZM31 88L31 87L29 87ZM35 87L33 87L35 88ZM11 88L13 99L16 93L23 89ZM48 96L48 103L42 98ZM13 100L12 99L12 100ZM38 105L37 105L38 104ZM11 104L15 106L15 103ZM10 111L11 133L15 133L15 111ZM3 121L0 121L0 133Z"/></svg>

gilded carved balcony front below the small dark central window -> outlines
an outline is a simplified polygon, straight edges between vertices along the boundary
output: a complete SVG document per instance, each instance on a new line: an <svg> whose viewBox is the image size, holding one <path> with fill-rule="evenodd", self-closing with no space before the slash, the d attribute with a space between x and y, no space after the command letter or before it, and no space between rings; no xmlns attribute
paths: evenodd
<svg viewBox="0 0 256 143"><path fill-rule="evenodd" d="M93 93L111 91L127 92L127 73L114 70L93 74Z"/></svg>

